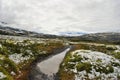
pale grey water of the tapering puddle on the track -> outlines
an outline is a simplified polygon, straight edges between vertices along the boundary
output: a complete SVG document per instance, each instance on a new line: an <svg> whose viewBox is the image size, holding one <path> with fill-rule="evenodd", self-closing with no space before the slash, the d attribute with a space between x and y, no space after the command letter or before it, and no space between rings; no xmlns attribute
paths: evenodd
<svg viewBox="0 0 120 80"><path fill-rule="evenodd" d="M65 51L48 58L47 60L38 63L37 66L40 68L40 71L47 75L53 75L58 72L59 65L62 62L65 54L69 51L69 48Z"/></svg>

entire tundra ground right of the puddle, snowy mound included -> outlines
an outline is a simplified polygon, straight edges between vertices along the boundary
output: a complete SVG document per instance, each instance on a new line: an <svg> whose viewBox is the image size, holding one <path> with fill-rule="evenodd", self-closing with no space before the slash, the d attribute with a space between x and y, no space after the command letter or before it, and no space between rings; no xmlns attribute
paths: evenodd
<svg viewBox="0 0 120 80"><path fill-rule="evenodd" d="M120 45L72 43L58 72L60 80L119 80Z"/></svg>

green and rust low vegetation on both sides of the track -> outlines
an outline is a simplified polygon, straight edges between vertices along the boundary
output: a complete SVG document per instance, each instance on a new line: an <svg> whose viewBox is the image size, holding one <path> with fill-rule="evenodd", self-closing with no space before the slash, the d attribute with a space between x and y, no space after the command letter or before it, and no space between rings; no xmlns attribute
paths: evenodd
<svg viewBox="0 0 120 80"><path fill-rule="evenodd" d="M69 42L66 42L69 43ZM120 50L116 45L98 44L98 43L69 43L74 46L74 49L66 54L65 59L60 65L58 72L60 80L74 80L75 75L79 72L86 71L91 73L92 67L97 71L105 74L113 73L114 67L119 67L118 62L111 62L111 64L100 66L101 59L96 60L96 65L90 62L83 62L89 60L88 57L82 57L79 53L73 54L76 50L91 50L103 52L120 60ZM27 80L27 74L30 70L31 63L40 56L49 56L54 49L62 48L64 41L57 39L44 40L14 40L14 39L0 39L0 72L6 75L3 80ZM87 53L87 51L82 51ZM99 66L99 67L98 67ZM76 69L76 72L74 72ZM119 75L117 76L120 77ZM86 80L89 80L86 74ZM95 80L100 79L96 77Z"/></svg>

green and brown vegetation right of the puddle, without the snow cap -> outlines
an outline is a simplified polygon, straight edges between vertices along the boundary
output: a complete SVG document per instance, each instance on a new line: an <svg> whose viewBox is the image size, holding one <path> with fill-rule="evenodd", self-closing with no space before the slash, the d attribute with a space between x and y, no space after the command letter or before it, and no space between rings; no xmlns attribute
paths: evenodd
<svg viewBox="0 0 120 80"><path fill-rule="evenodd" d="M93 60L94 62L90 62L91 59L89 59L88 57L83 57L81 55L79 55L78 52L75 52L76 50L83 50L81 51L81 53L89 53L86 50L91 50L91 51L97 51L97 52L102 52L105 53L106 55L112 56L113 58L117 59L118 61L120 60L120 49L117 47L118 45L111 45L111 44L99 44L99 43L82 43L82 42L78 42L77 44L74 42L70 43L71 45L74 45L74 50L68 52L68 54L66 55L65 59L63 60L63 62L60 65L60 70L59 70L59 76L60 76L60 80L65 80L67 78L69 78L70 73L71 76L73 76L71 78L71 80L75 80L75 76L77 76L78 74L83 75L84 73L85 76L84 77L78 77L78 79L85 79L85 80L101 80L102 79L102 75L106 74L112 74L114 73L115 69L114 67L117 67L119 69L120 63L119 62L115 62L114 59L113 61L111 61L108 64L103 64L102 59L98 58L96 61ZM112 59L111 59L112 60ZM97 74L94 74L94 78L90 77L90 74L92 73L92 70L95 70L96 73L102 74L101 76L96 76ZM85 71L85 72L84 72ZM80 73L81 72L81 73ZM118 71L120 72L120 71ZM66 76L63 76L63 74L65 74ZM69 75L68 75L69 74ZM117 78L119 79L119 73L117 73L118 76ZM111 79L110 77L108 77L108 79Z"/></svg>

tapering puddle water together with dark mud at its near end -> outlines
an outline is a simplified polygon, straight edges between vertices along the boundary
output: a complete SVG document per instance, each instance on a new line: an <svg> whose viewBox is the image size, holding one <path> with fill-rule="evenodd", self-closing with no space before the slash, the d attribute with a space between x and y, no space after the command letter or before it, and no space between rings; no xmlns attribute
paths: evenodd
<svg viewBox="0 0 120 80"><path fill-rule="evenodd" d="M32 70L32 76L29 76L29 80L58 80L56 73L58 72L59 66L69 50L70 47L37 63L34 70Z"/></svg>

